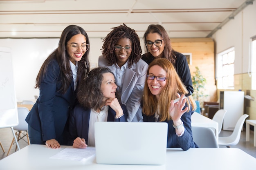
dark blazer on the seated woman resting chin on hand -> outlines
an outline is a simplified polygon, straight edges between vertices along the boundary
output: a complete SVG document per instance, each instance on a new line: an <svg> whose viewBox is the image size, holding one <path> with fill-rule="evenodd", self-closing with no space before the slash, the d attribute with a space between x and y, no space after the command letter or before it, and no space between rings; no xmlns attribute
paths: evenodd
<svg viewBox="0 0 256 170"><path fill-rule="evenodd" d="M121 104L124 115L119 119L115 119L116 112L110 106L108 109L108 118L107 121L127 121L128 113L126 106ZM68 145L73 145L74 139L76 137L84 138L85 143L88 144L88 129L90 121L91 109L85 108L82 105L76 105L72 114L70 115L70 124L69 124L69 142Z"/></svg>

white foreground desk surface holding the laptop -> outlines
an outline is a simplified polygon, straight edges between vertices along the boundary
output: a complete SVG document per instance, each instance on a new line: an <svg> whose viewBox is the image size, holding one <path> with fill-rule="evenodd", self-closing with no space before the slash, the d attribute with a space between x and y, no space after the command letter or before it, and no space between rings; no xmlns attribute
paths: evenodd
<svg viewBox="0 0 256 170"><path fill-rule="evenodd" d="M162 166L97 164L87 161L50 159L66 147L49 149L29 145L0 160L1 170L255 170L256 159L238 148L167 148ZM111 153L110 153L111 154Z"/></svg>

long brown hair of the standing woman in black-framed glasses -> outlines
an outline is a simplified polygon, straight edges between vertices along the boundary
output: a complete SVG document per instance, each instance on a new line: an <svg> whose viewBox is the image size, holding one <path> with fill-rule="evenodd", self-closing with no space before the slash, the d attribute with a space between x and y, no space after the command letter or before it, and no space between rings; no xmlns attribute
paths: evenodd
<svg viewBox="0 0 256 170"><path fill-rule="evenodd" d="M159 24L150 24L143 36L143 39L145 40L145 42L147 41L147 35L149 33L157 33L164 39L164 51L159 57L168 59L173 64L173 66L175 66L175 62L176 62L176 56L174 54L175 51L171 47L171 40L168 36L168 33L165 31L164 27ZM149 52L146 46L145 46L145 51Z"/></svg>

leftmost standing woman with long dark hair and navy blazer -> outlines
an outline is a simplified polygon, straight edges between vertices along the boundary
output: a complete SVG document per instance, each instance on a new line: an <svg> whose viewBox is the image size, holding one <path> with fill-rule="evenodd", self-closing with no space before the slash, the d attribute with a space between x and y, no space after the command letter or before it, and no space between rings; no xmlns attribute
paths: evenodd
<svg viewBox="0 0 256 170"><path fill-rule="evenodd" d="M67 145L67 122L76 102L76 88L90 71L89 38L80 26L67 26L55 49L45 60L36 77L40 95L29 112L31 144L48 148Z"/></svg>

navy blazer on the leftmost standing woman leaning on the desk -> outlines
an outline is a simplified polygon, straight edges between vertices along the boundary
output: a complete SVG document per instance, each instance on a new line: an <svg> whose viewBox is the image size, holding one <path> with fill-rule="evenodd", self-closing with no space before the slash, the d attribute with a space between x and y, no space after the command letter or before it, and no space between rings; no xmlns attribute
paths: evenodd
<svg viewBox="0 0 256 170"><path fill-rule="evenodd" d="M59 81L60 67L52 59L40 84L40 95L25 119L29 126L41 132L43 141L58 139L65 130L68 134L65 126L75 103L74 83L72 81L67 92L62 94Z"/></svg>

